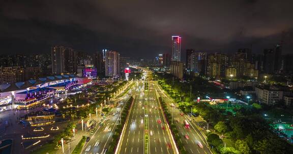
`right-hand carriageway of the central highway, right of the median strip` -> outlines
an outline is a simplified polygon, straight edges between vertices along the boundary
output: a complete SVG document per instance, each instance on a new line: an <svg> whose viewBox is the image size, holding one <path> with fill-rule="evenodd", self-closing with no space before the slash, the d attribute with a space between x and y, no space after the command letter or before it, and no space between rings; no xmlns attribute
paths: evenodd
<svg viewBox="0 0 293 154"><path fill-rule="evenodd" d="M153 88L150 88L149 95L149 128L153 134L150 136L150 150L151 152L173 153L172 149L169 149L167 146L170 140L168 134L162 129L164 122L162 114L159 112L159 104L157 99L155 99ZM158 120L161 121L161 124L158 123Z"/></svg>

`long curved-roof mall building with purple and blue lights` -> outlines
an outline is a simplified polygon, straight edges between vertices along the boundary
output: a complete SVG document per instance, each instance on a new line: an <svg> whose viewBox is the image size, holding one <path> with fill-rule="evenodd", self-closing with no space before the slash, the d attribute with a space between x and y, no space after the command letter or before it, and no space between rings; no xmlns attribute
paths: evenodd
<svg viewBox="0 0 293 154"><path fill-rule="evenodd" d="M0 111L11 108L28 108L54 94L67 94L92 84L92 79L74 74L47 76L15 84L0 85Z"/></svg>

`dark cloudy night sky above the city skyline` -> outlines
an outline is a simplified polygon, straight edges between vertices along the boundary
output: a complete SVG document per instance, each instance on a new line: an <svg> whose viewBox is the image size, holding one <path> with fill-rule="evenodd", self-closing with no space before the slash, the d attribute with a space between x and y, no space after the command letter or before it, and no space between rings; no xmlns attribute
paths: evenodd
<svg viewBox="0 0 293 154"><path fill-rule="evenodd" d="M262 53L284 41L293 53L293 1L5 1L0 5L1 53L49 53L68 45L93 53L153 58L171 53L171 35L182 51Z"/></svg>

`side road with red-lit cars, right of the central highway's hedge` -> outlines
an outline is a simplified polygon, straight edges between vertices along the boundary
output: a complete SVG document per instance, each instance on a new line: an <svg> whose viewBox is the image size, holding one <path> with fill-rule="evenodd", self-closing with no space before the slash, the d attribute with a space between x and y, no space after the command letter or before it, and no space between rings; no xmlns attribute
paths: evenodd
<svg viewBox="0 0 293 154"><path fill-rule="evenodd" d="M165 92L160 88L157 82L152 82L152 84L155 85L156 91L161 97L163 97L163 100L167 103L168 110L173 116L173 124L177 126L177 129L181 134L180 140L184 144L185 150L188 153L211 153L206 141L204 140L204 137L195 127L193 122L188 121L186 115L180 115L181 111L176 105L175 107L171 107L171 103L175 104L175 102L165 94ZM189 129L186 129L184 127L185 120L187 120L190 125ZM186 138L186 135L188 138ZM199 142L202 144L202 148L199 146Z"/></svg>

